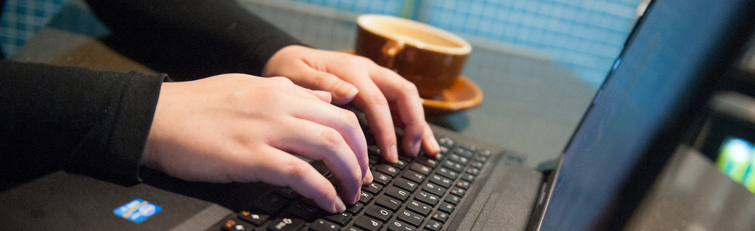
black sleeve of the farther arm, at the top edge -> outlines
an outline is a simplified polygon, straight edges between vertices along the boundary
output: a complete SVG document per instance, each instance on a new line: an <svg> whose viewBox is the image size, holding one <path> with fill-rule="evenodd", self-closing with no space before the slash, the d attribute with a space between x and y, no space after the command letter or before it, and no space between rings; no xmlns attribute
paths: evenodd
<svg viewBox="0 0 755 231"><path fill-rule="evenodd" d="M111 47L171 79L260 75L276 51L300 44L233 0L88 0Z"/></svg>

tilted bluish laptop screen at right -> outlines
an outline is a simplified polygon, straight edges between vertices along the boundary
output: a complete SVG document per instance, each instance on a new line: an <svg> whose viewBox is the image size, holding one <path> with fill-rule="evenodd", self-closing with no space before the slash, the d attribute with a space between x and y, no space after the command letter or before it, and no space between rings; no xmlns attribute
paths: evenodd
<svg viewBox="0 0 755 231"><path fill-rule="evenodd" d="M652 3L565 148L541 229L605 227L606 219L613 223L621 220L618 214L631 212L625 205L636 204L644 193L631 186L652 183L658 162L683 138L716 74L730 66L741 37L750 35L741 31L751 31L752 5ZM643 172L639 165L647 164Z"/></svg>

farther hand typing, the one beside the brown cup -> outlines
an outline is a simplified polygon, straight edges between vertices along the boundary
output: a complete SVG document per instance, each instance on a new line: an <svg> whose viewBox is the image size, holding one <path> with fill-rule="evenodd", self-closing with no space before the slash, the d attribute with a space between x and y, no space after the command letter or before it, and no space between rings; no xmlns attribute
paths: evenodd
<svg viewBox="0 0 755 231"><path fill-rule="evenodd" d="M432 156L440 150L414 84L365 57L291 45L273 54L262 74L285 76L305 88L328 91L335 104L353 100L367 115L381 154L389 162L398 161L394 125L404 130L403 147L409 155L416 156L421 147Z"/></svg>

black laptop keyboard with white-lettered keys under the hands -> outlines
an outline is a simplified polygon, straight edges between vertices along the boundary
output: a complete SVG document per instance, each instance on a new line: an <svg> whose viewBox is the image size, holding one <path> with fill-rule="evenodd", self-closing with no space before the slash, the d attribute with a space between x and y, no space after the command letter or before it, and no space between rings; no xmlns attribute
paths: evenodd
<svg viewBox="0 0 755 231"><path fill-rule="evenodd" d="M359 202L344 213L330 214L291 189L273 186L254 208L224 220L220 229L440 230L490 157L487 150L442 137L438 156L402 156L391 164L382 160L374 141L368 143L374 181L362 186ZM310 164L335 182L324 163Z"/></svg>

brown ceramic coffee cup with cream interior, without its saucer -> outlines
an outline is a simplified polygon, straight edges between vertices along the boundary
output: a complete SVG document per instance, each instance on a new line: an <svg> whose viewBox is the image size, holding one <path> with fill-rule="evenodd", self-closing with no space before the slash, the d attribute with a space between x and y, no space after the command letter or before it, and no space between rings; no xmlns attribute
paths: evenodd
<svg viewBox="0 0 755 231"><path fill-rule="evenodd" d="M472 51L464 38L413 20L366 14L356 24L356 54L397 72L428 99L454 84Z"/></svg>

